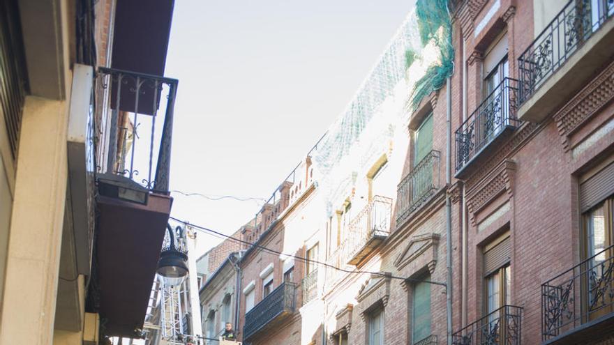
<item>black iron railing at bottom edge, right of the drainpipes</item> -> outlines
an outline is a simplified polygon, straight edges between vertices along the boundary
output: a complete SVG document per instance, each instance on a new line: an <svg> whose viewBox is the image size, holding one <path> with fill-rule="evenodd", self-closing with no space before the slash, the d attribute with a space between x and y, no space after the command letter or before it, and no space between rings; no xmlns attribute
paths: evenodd
<svg viewBox="0 0 614 345"><path fill-rule="evenodd" d="M452 335L454 345L520 345L523 308L504 305Z"/></svg>

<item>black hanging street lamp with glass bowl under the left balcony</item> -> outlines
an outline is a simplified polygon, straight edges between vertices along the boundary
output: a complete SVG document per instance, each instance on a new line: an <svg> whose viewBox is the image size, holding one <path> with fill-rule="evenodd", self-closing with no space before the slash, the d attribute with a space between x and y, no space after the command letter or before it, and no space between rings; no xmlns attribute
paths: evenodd
<svg viewBox="0 0 614 345"><path fill-rule="evenodd" d="M188 256L175 247L174 234L170 224L166 225L166 229L170 238L170 245L163 248L160 253L156 273L162 277L164 284L176 286L184 282L188 275Z"/></svg>

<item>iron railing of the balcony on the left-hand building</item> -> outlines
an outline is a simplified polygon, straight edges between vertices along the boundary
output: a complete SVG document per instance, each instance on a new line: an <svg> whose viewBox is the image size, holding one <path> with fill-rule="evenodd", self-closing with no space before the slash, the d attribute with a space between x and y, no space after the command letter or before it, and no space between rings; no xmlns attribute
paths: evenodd
<svg viewBox="0 0 614 345"><path fill-rule="evenodd" d="M98 104L98 173L168 192L177 79L99 68L97 82L105 90Z"/></svg>

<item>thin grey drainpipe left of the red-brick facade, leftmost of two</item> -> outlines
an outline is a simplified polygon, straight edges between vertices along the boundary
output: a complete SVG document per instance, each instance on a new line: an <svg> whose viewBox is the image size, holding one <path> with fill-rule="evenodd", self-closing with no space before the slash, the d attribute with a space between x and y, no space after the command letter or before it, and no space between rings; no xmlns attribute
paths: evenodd
<svg viewBox="0 0 614 345"><path fill-rule="evenodd" d="M446 185L451 184L451 136L452 136L452 85L451 77L446 79ZM452 344L452 205L446 193L446 319L448 345Z"/></svg>

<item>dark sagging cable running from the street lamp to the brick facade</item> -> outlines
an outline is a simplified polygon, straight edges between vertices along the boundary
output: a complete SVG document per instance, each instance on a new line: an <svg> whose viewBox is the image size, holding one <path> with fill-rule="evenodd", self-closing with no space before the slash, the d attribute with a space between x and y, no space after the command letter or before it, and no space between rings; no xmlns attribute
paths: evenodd
<svg viewBox="0 0 614 345"><path fill-rule="evenodd" d="M322 262L322 261L308 259L308 258L306 258L304 256L297 256L297 255L293 255L293 254L286 254L286 253L283 253L283 252L278 252L277 250L272 250L271 248L267 248L267 247L264 247L262 245L258 245L257 243L250 243L248 241L241 240L240 238L236 238L236 237L232 237L232 236L229 236L229 235L225 235L224 233L220 233L219 231L215 231L215 230L209 229L207 227L202 227L201 225L192 224L190 222L186 222L184 220L180 220L180 219L172 217L172 216L170 216L169 218L174 220L174 221L176 221L176 222L180 222L182 224L185 224L185 226L188 227L188 228L191 227L193 229L198 229L198 230L203 231L205 233L210 233L210 234L213 233L213 234L216 234L218 236L223 236L223 237L228 238L230 240L234 240L234 241L236 241L238 243L244 243L246 245L250 245L252 247L258 248L260 250L263 250L264 252L268 252L269 254L276 254L276 255L279 255L279 256L291 257L291 258L297 259L299 261L304 261L306 263L315 263L317 265L324 266L324 267L327 267L327 268L332 268L334 270L338 270L338 271L343 272L343 273L377 275L377 276L380 276L380 277L390 277L392 279L405 280L407 282L424 282L424 283L428 283L428 284L434 284L434 285L440 285L440 286L447 287L447 284L445 284L445 283L433 282L431 280L414 279L414 278L408 278L408 277L398 277L398 276L387 274L387 273L383 273L383 272L373 272L373 271L368 271L368 270L346 270L345 268L338 268L338 267L336 267L334 265L331 265L330 263L325 263L325 262Z"/></svg>

